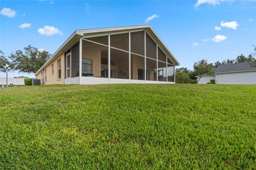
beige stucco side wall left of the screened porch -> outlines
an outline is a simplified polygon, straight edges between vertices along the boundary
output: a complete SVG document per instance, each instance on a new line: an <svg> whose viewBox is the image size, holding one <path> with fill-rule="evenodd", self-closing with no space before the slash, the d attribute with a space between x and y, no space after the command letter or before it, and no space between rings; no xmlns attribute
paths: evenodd
<svg viewBox="0 0 256 170"><path fill-rule="evenodd" d="M58 63L57 61L61 59L61 79L58 79ZM52 64L54 67L54 74L52 74ZM65 80L65 57L64 53L57 57L54 61L49 63L44 70L46 70L46 81L44 84L64 84ZM42 79L42 71L36 75L37 79L41 79L41 83L43 82ZM43 74L44 75L44 74ZM44 75L45 78L45 75Z"/></svg>

